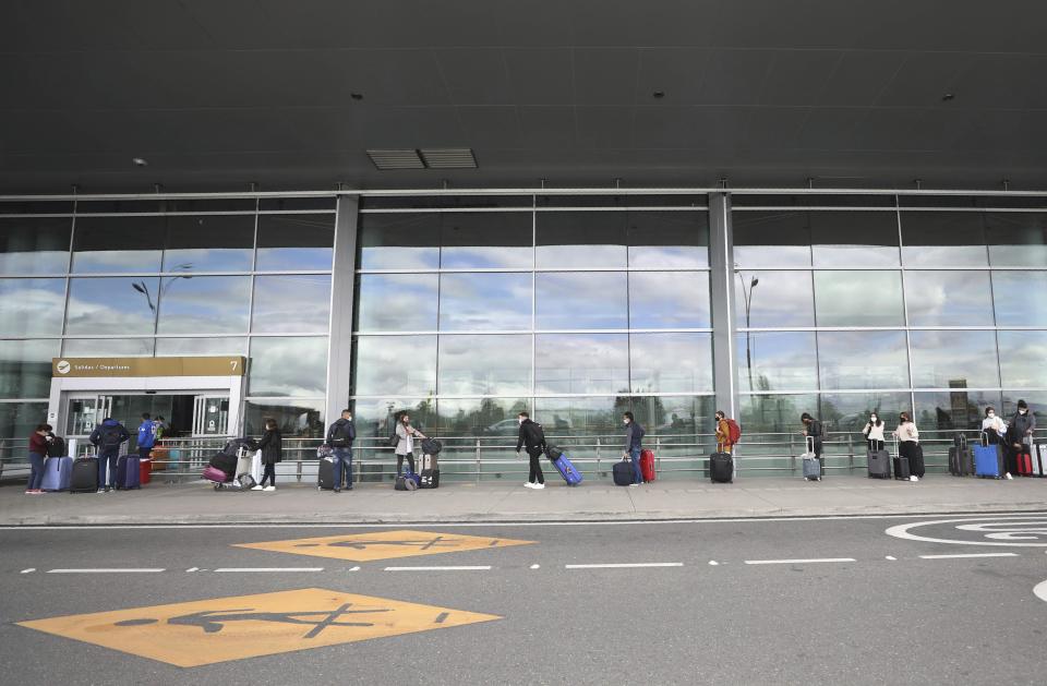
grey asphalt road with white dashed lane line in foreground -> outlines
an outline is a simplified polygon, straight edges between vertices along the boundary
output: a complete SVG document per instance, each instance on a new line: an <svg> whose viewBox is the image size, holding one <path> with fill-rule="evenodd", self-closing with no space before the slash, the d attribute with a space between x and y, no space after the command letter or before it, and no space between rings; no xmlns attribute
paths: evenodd
<svg viewBox="0 0 1047 686"><path fill-rule="evenodd" d="M949 521L929 523L939 520ZM915 526L901 535L937 540L886 532L906 525ZM0 683L1044 682L1047 586L1044 599L1034 587L1047 580L1047 515L412 527L432 538L407 535L411 552L441 535L480 537L481 547L372 562L234 546L361 533L385 540L398 529L0 530ZM495 539L534 543L488 543ZM819 562L784 562L810 559ZM387 569L418 566L477 568ZM49 571L101 568L164 570ZM193 667L76 640L71 629L56 636L15 624L310 588L501 618ZM306 610L314 609L296 606ZM308 645L310 630L357 630L304 619L279 625L296 646ZM237 626L279 624L267 622ZM210 634L202 625L179 630L194 651L214 655L208 641L228 637L234 623Z"/></svg>

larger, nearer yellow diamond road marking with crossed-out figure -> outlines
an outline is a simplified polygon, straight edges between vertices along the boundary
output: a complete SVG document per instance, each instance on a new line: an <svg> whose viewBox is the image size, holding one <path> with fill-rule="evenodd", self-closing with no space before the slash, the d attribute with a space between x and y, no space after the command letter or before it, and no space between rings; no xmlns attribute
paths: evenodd
<svg viewBox="0 0 1047 686"><path fill-rule="evenodd" d="M51 617L19 625L193 667L501 618L308 588Z"/></svg>

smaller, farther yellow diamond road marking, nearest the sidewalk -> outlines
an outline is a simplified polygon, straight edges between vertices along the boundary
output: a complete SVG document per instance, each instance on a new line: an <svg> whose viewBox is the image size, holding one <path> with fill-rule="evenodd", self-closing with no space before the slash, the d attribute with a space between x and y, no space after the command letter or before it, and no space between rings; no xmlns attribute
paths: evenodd
<svg viewBox="0 0 1047 686"><path fill-rule="evenodd" d="M348 535L325 535L289 541L263 541L261 543L236 543L238 547L296 555L315 555L351 562L372 562L414 555L460 553L462 551L529 545L534 541L495 539L484 535L433 533L430 531L376 531Z"/></svg>

